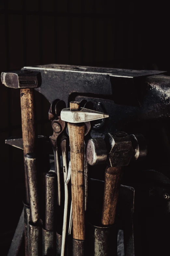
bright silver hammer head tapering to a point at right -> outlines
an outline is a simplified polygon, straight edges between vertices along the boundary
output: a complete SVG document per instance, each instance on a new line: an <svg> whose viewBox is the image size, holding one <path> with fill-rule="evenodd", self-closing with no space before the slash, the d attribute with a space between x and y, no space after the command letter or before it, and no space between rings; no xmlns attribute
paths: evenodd
<svg viewBox="0 0 170 256"><path fill-rule="evenodd" d="M68 108L61 111L61 120L75 124L89 122L106 117L109 117L109 115L85 108L80 108L79 110L75 111L71 111L70 108Z"/></svg>

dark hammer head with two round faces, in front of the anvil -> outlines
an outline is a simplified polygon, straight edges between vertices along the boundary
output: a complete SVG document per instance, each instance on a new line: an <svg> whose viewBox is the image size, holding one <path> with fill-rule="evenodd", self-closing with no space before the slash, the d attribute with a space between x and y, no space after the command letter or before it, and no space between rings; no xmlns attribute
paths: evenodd
<svg viewBox="0 0 170 256"><path fill-rule="evenodd" d="M111 132L104 140L90 139L86 144L86 159L90 165L107 162L110 167L126 166L132 158L137 160L146 154L147 146L142 134Z"/></svg>

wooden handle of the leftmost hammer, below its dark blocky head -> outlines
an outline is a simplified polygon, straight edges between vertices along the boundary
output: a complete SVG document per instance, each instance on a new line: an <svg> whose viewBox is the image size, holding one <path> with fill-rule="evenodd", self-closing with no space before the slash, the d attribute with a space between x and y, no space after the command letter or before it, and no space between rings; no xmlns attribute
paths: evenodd
<svg viewBox="0 0 170 256"><path fill-rule="evenodd" d="M26 203L29 204L28 181L26 175L25 155L35 153L36 124L35 124L35 95L34 89L21 89L21 122L24 154L24 171L26 187Z"/></svg>

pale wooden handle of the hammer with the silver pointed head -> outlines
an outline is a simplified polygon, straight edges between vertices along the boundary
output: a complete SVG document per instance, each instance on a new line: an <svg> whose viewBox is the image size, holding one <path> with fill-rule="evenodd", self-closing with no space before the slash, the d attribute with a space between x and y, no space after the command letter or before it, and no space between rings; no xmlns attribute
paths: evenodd
<svg viewBox="0 0 170 256"><path fill-rule="evenodd" d="M70 110L78 110L78 102L70 102ZM85 239L84 206L84 123L68 123L71 160L71 194L73 207L73 238Z"/></svg>

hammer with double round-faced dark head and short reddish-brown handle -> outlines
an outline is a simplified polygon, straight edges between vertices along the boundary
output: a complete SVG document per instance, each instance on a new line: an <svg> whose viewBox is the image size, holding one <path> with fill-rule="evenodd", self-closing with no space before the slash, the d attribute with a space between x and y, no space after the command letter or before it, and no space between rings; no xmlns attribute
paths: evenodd
<svg viewBox="0 0 170 256"><path fill-rule="evenodd" d="M107 133L105 138L90 139L86 144L86 158L90 165L107 163L101 223L115 223L120 181L125 166L131 159L142 159L147 154L147 145L142 134L126 132Z"/></svg>

